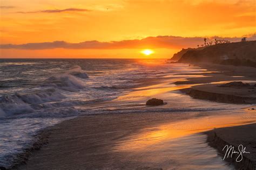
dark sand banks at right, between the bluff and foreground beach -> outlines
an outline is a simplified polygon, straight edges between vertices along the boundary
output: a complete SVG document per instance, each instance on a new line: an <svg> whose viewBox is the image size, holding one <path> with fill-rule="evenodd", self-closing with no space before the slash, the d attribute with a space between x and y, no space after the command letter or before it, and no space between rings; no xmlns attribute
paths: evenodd
<svg viewBox="0 0 256 170"><path fill-rule="evenodd" d="M255 104L256 103L256 68L254 67L235 67L202 63L199 65L210 73L203 73L203 77L192 77L186 81L177 81L174 84L199 84L181 91L191 97L211 100L223 103ZM212 72L212 73L211 73ZM250 83L250 87L219 87L232 81L242 81ZM214 83L218 82L218 83ZM201 84L208 83L208 84Z"/></svg>

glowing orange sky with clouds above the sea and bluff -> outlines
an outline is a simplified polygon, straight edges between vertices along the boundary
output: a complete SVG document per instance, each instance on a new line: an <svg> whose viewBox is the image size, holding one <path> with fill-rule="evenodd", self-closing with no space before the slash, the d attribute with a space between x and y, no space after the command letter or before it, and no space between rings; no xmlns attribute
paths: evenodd
<svg viewBox="0 0 256 170"><path fill-rule="evenodd" d="M0 2L0 44L39 42L36 48L1 46L0 58L145 58L140 53L143 48L154 49L151 58L169 58L183 47L203 43L199 41L201 37L240 39L256 32L255 0ZM92 45L92 40L97 41ZM48 44L46 47L42 44L53 41L65 41L69 45L55 43L48 49ZM81 47L78 42L86 45Z"/></svg>

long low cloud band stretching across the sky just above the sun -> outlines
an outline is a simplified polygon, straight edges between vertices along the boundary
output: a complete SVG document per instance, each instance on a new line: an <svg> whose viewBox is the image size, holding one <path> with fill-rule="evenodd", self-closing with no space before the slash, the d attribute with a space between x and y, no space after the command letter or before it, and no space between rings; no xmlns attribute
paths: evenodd
<svg viewBox="0 0 256 170"><path fill-rule="evenodd" d="M207 42L214 39L225 39L231 42L240 41L241 37L209 37ZM256 34L247 36L247 40L256 40ZM122 41L84 41L79 43L69 43L65 41L39 42L28 44L2 44L2 49L124 49L124 48L187 48L197 47L204 44L204 37L175 37L175 36L157 36L144 39L122 40Z"/></svg>

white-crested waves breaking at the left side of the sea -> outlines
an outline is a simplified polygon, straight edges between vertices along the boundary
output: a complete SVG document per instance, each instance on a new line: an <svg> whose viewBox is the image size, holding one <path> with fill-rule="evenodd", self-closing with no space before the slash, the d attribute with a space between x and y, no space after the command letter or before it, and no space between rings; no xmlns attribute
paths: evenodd
<svg viewBox="0 0 256 170"><path fill-rule="evenodd" d="M28 114L40 109L83 104L81 101L62 101L67 98L65 91L76 92L85 88L78 77L89 78L83 72L69 72L51 76L38 87L16 92L13 95L0 96L0 117Z"/></svg>

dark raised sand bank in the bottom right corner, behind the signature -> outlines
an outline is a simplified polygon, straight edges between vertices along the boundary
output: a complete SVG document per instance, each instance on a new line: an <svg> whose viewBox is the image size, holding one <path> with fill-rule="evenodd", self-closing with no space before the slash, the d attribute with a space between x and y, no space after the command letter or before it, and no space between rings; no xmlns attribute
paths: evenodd
<svg viewBox="0 0 256 170"><path fill-rule="evenodd" d="M256 124L233 126L228 128L219 128L206 132L208 135L207 141L211 146L218 149L223 155L226 150L223 148L228 146L234 146L236 151L239 151L238 146L243 145L246 152L243 153L241 159L238 158L238 154L234 154L232 158L225 158L225 160L232 162L239 169L252 169L256 168ZM242 151L240 147L240 151ZM238 159L237 159L238 158ZM236 161L237 159L237 161Z"/></svg>

